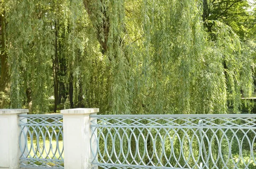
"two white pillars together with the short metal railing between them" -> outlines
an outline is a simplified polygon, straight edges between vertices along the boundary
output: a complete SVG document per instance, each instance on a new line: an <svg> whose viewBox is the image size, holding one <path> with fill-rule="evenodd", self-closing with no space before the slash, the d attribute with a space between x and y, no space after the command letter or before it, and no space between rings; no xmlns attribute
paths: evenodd
<svg viewBox="0 0 256 169"><path fill-rule="evenodd" d="M90 147L96 149L96 144L90 144L89 115L99 109L65 109L59 115L28 112L0 109L0 168L92 168Z"/></svg>

